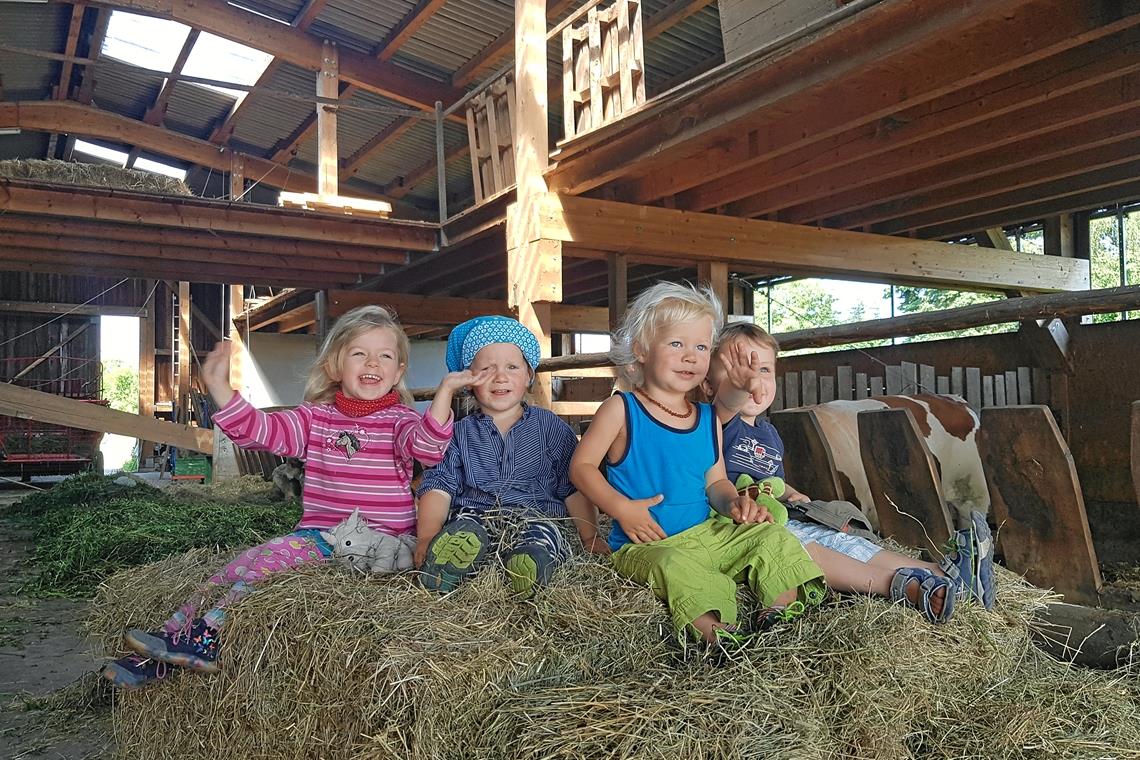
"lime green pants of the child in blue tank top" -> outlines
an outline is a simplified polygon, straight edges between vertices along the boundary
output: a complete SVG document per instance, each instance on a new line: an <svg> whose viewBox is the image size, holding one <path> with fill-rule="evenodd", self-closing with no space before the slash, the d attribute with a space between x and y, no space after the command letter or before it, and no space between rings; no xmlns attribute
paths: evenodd
<svg viewBox="0 0 1140 760"><path fill-rule="evenodd" d="M738 525L710 517L660 541L627 544L612 562L669 606L678 634L706 612L735 623L738 583L748 583L766 607L793 588L815 604L823 598L823 571L795 536L771 523Z"/></svg>

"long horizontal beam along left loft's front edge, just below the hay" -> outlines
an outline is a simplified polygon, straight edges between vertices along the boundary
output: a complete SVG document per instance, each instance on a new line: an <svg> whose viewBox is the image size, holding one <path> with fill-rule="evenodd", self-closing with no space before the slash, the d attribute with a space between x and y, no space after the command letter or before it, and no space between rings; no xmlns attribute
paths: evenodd
<svg viewBox="0 0 1140 760"><path fill-rule="evenodd" d="M0 109L3 106L0 105ZM214 150L218 148L214 147ZM0 178L0 209L106 222L267 235L406 251L433 251L435 226L398 220L329 218L275 206L252 207L194 197L154 196L100 188L58 189Z"/></svg>

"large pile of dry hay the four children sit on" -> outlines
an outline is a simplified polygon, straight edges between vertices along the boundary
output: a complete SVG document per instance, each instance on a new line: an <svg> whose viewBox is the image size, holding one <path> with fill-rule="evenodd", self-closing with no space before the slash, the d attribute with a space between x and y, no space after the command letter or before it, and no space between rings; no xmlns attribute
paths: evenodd
<svg viewBox="0 0 1140 760"><path fill-rule="evenodd" d="M90 632L121 654L124 629L161 623L223 559L112 578ZM234 607L221 673L122 694L115 732L146 758L1140 758L1137 673L1035 648L1049 598L1002 572L994 612L937 628L849 598L717 665L594 561L530 604L492 572L438 597L311 567Z"/></svg>

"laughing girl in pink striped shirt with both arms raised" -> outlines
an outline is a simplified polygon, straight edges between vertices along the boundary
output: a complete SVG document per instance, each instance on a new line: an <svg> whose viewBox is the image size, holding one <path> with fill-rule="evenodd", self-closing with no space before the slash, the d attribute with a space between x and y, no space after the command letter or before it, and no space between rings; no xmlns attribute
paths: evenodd
<svg viewBox="0 0 1140 760"><path fill-rule="evenodd" d="M267 414L230 387L229 343L219 343L202 366L202 379L218 403L214 423L234 443L306 460L301 522L288 536L249 549L213 575L163 626L131 630L127 645L138 655L116 660L104 676L133 688L162 678L168 665L218 670L218 630L226 607L269 574L324 562L332 547L320 537L359 509L369 528L414 534L412 463L438 464L451 440L451 398L486 384L491 374L450 373L427 412L412 407L404 384L408 338L382 307L361 307L341 317L309 373L300 407ZM227 588L228 587L228 588ZM218 600L197 616L210 597Z"/></svg>

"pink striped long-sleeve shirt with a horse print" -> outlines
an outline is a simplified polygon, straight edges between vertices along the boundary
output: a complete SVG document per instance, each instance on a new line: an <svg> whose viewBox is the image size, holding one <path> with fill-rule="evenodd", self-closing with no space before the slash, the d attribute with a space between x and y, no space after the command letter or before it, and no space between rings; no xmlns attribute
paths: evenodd
<svg viewBox="0 0 1140 760"><path fill-rule="evenodd" d="M413 532L412 460L439 464L451 440L450 419L440 425L404 404L365 417L332 403L264 412L235 393L213 419L236 446L304 460L298 528L331 528L359 509L375 530Z"/></svg>

